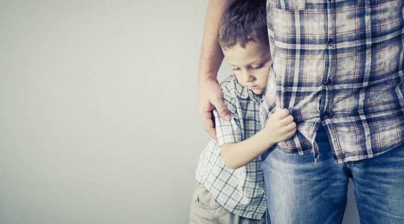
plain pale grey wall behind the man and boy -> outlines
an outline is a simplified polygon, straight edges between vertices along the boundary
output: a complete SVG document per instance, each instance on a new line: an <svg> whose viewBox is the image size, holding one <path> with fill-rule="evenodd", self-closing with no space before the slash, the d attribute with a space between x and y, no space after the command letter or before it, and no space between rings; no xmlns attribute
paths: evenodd
<svg viewBox="0 0 404 224"><path fill-rule="evenodd" d="M188 222L207 4L0 0L0 223Z"/></svg>

